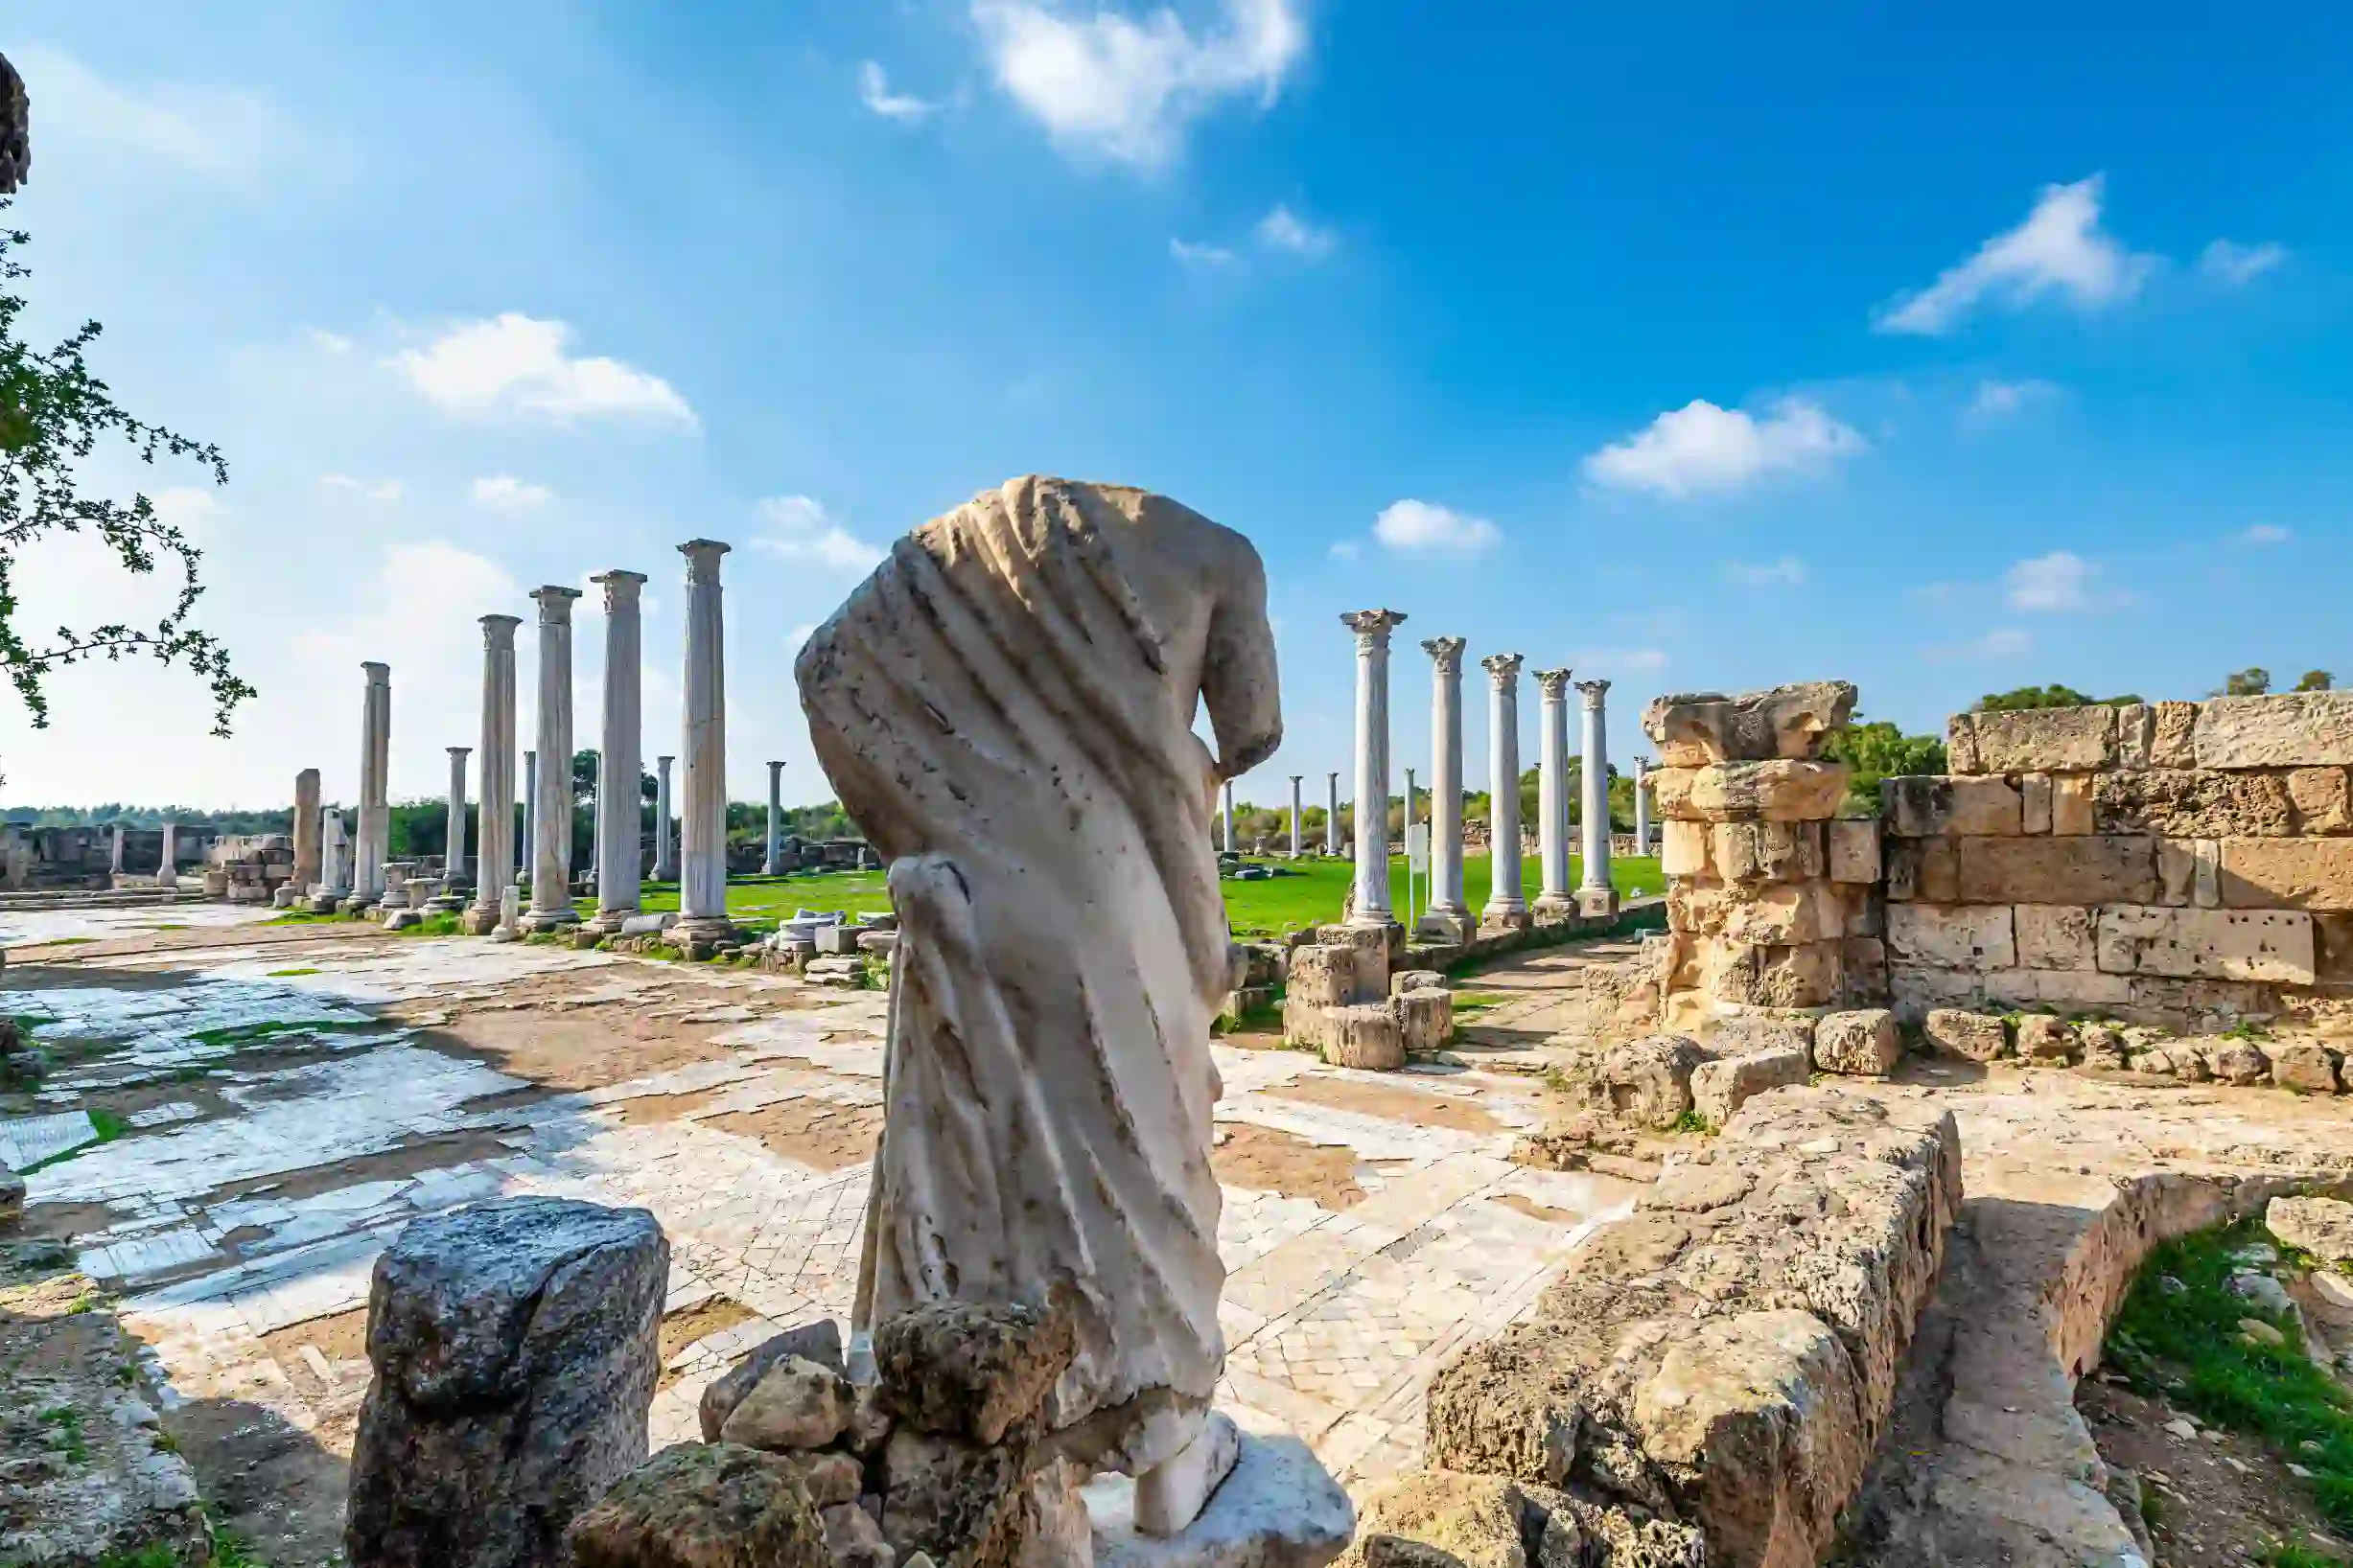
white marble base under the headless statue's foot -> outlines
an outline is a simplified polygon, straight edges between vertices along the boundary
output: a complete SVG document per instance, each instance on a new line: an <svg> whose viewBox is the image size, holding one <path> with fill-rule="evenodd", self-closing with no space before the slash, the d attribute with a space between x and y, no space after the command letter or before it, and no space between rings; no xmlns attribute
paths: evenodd
<svg viewBox="0 0 2353 1568"><path fill-rule="evenodd" d="M1136 1526L1136 1483L1096 1476L1080 1493L1094 1568L1325 1568L1355 1535L1355 1507L1297 1436L1245 1432L1240 1458L1174 1535Z"/></svg>

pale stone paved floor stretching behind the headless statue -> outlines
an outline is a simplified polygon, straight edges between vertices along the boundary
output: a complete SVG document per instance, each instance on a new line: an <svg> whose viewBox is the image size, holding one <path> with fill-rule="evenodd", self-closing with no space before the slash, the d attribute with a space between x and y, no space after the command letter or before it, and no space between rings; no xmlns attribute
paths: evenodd
<svg viewBox="0 0 2353 1568"><path fill-rule="evenodd" d="M694 1432L701 1387L762 1335L849 1309L880 994L332 926L28 957L0 985L61 1058L33 1112L132 1107L120 1138L28 1175L31 1218L71 1225L176 1399L247 1401L348 1446L376 1253L412 1218L494 1194L642 1204L671 1234L671 1319L725 1326L668 1347L656 1443ZM1541 1006L1541 978L1478 985ZM518 1065L480 1044L501 1016L529 1018L525 1034L593 1020L612 1032L581 1056L609 1056ZM638 1070L661 1051L692 1060ZM1525 1077L1217 1056L1221 1126L1337 1157L1362 1194L1318 1201L1280 1173L1226 1187L1224 1403L1362 1488L1417 1460L1431 1373L1525 1309L1633 1190L1504 1159L1541 1117ZM605 1081L546 1081L572 1067ZM861 1114L849 1154L760 1131Z"/></svg>

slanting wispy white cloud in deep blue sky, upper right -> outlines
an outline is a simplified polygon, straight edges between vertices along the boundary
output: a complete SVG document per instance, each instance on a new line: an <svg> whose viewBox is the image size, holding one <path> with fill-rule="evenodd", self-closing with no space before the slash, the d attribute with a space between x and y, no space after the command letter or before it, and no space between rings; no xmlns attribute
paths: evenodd
<svg viewBox="0 0 2353 1568"><path fill-rule="evenodd" d="M2101 233L2099 181L2094 174L2073 186L2045 186L2024 223L1993 235L1918 294L1885 306L1873 324L1937 336L1981 303L2017 310L2061 294L2075 308L2094 310L2132 299L2155 259L2134 256Z"/></svg>

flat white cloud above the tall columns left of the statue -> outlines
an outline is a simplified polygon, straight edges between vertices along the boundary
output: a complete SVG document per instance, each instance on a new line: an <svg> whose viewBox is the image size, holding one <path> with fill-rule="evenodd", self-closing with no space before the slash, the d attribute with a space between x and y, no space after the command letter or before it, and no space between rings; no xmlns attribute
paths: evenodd
<svg viewBox="0 0 2353 1568"><path fill-rule="evenodd" d="M572 353L576 334L508 310L459 322L426 348L402 350L393 369L452 414L527 414L567 425L581 418L640 418L696 428L694 409L649 371Z"/></svg>

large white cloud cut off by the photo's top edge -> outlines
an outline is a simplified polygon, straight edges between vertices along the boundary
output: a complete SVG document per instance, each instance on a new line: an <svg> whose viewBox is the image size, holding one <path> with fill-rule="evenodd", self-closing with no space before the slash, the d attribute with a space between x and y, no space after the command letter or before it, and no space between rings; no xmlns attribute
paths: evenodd
<svg viewBox="0 0 2353 1568"><path fill-rule="evenodd" d="M1193 38L1167 7L1144 21L1061 16L1038 0L972 0L988 68L1056 146L1136 167L1167 162L1186 127L1231 96L1273 103L1306 56L1299 0L1224 0Z"/></svg>

